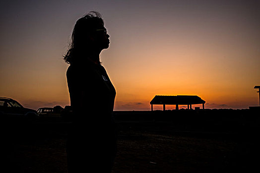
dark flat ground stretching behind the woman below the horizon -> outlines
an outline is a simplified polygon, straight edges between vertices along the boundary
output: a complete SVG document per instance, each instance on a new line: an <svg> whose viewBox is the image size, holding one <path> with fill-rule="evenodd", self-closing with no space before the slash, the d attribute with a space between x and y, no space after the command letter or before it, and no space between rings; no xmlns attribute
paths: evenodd
<svg viewBox="0 0 260 173"><path fill-rule="evenodd" d="M118 153L113 173L259 172L259 113L249 109L114 112ZM69 119L5 121L1 121L5 173L67 172Z"/></svg>

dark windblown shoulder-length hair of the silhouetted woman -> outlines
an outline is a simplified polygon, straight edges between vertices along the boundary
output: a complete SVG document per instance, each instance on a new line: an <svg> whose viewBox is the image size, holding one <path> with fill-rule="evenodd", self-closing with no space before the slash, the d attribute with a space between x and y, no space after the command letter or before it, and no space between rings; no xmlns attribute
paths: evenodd
<svg viewBox="0 0 260 173"><path fill-rule="evenodd" d="M71 43L67 53L63 56L66 63L71 64L80 58L79 56L84 49L91 48L92 45L86 36L100 24L104 25L104 21L101 14L96 11L90 11L76 21L71 35Z"/></svg>

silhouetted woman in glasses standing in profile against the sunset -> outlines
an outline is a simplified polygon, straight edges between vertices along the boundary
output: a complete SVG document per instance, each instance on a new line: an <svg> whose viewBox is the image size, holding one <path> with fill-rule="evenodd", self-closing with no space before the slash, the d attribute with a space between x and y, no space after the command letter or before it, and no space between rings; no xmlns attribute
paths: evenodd
<svg viewBox="0 0 260 173"><path fill-rule="evenodd" d="M73 110L66 151L69 173L111 173L116 154L112 117L116 90L99 55L109 47L109 35L98 12L78 19L65 62Z"/></svg>

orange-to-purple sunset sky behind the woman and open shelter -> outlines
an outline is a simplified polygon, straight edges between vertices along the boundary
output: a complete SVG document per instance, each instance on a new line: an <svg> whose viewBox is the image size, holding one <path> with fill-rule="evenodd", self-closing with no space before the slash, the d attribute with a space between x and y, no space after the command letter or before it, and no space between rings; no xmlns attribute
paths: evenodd
<svg viewBox="0 0 260 173"><path fill-rule="evenodd" d="M198 95L210 109L259 105L260 0L1 1L0 96L69 105L62 56L91 10L110 35L100 56L115 110L150 110L155 95Z"/></svg>

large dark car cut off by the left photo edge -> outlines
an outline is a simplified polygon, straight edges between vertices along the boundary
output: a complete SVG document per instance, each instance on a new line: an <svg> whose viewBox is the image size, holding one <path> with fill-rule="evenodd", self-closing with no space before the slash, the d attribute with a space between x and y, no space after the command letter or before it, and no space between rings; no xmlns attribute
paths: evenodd
<svg viewBox="0 0 260 173"><path fill-rule="evenodd" d="M24 108L16 100L0 97L0 116L7 118L35 118L38 117L38 114L36 110Z"/></svg>

